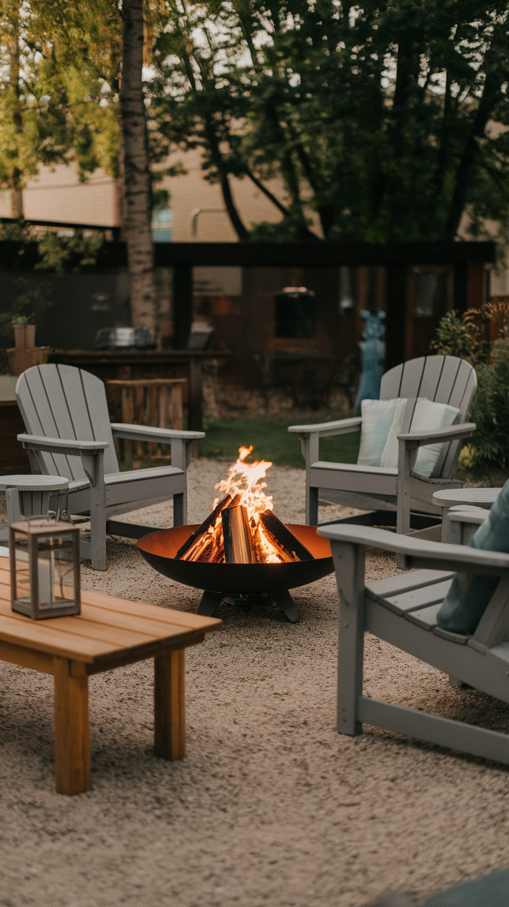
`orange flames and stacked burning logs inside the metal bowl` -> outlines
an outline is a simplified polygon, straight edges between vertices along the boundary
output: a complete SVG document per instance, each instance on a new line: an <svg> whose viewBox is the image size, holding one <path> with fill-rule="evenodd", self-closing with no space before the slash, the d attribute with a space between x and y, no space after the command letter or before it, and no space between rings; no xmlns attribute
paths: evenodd
<svg viewBox="0 0 509 907"><path fill-rule="evenodd" d="M239 448L239 457L226 479L214 486L221 497L214 500L212 513L177 552L177 558L210 563L288 563L312 557L272 514L272 497L264 491L272 463L246 463L252 449L252 445ZM232 555L236 546L238 556Z"/></svg>

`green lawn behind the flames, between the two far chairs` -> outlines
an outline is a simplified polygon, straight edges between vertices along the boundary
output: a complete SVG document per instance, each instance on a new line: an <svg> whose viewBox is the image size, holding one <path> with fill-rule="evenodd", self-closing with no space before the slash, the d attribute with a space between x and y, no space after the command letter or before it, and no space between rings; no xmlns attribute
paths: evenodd
<svg viewBox="0 0 509 907"><path fill-rule="evenodd" d="M200 455L233 461L239 447L253 445L250 459L270 460L277 466L304 468L300 453L299 438L289 434L287 428L292 422L260 422L256 419L220 419L205 424L206 437L200 442ZM320 441L320 458L336 460L339 463L357 463L360 433L342 434L336 438Z"/></svg>

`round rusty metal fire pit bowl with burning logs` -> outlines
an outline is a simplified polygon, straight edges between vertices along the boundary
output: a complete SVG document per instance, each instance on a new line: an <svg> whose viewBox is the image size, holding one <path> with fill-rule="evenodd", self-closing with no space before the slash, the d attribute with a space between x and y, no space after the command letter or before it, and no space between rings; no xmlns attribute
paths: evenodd
<svg viewBox="0 0 509 907"><path fill-rule="evenodd" d="M244 463L250 450L240 448L228 478L216 485L225 496L201 525L151 532L137 545L154 570L204 590L198 614L211 617L225 597L244 610L271 600L296 623L289 589L334 571L330 545L314 526L279 522L263 492L271 463Z"/></svg>

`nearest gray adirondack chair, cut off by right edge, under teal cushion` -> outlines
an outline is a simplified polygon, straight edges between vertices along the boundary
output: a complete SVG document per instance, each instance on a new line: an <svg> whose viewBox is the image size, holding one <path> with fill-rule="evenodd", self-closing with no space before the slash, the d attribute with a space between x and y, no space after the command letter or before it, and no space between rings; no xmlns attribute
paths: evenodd
<svg viewBox="0 0 509 907"><path fill-rule="evenodd" d="M486 512L451 508L458 541L468 541ZM509 703L509 554L401 536L370 526L318 528L330 540L339 595L338 732L362 722L509 765L509 735L363 695L364 631L426 661L456 687L468 684ZM452 532L449 534L451 536ZM394 551L415 571L365 583L366 548ZM436 626L453 571L501 577L472 637Z"/></svg>

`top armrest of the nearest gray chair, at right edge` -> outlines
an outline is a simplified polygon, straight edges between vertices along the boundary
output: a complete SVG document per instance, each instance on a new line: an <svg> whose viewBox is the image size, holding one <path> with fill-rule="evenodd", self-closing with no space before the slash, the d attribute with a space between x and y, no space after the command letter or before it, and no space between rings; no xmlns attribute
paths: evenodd
<svg viewBox="0 0 509 907"><path fill-rule="evenodd" d="M333 524L319 526L317 532L331 541L333 549L334 542L338 541L377 548L381 551L393 551L404 559L406 570L425 568L497 576L509 572L509 554L501 551L482 551L465 545L413 539L411 535L396 535L384 529L356 526L352 523L347 526Z"/></svg>

